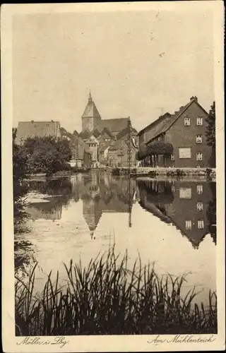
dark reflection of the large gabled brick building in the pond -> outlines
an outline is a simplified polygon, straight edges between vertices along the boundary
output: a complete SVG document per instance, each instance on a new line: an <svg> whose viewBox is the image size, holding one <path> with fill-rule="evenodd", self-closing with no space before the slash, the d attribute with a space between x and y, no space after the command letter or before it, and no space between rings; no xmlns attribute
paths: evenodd
<svg viewBox="0 0 226 353"><path fill-rule="evenodd" d="M194 249L210 233L216 244L216 186L208 181L138 180L140 204L173 224Z"/></svg>

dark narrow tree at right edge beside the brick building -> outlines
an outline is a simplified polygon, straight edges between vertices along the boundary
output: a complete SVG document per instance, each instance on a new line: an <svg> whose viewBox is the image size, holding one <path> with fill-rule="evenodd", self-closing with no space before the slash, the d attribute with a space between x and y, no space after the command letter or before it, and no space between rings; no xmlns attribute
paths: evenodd
<svg viewBox="0 0 226 353"><path fill-rule="evenodd" d="M207 145L212 149L210 163L215 167L215 150L216 150L216 137L215 137L215 102L210 107L210 112L206 118L206 141Z"/></svg>

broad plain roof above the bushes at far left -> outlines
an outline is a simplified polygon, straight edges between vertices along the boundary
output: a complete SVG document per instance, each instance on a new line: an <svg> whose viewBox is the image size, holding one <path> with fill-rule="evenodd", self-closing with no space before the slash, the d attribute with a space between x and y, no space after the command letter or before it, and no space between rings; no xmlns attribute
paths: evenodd
<svg viewBox="0 0 226 353"><path fill-rule="evenodd" d="M60 136L59 121L19 121L16 143L31 137Z"/></svg>

